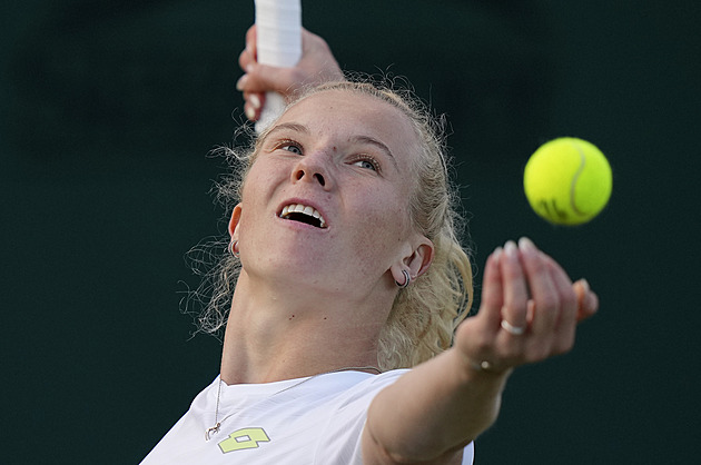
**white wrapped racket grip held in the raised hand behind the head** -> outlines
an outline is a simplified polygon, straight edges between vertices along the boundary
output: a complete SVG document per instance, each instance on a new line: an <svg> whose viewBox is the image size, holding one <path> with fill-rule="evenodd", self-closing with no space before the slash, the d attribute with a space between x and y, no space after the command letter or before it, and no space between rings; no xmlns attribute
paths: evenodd
<svg viewBox="0 0 701 465"><path fill-rule="evenodd" d="M255 0L258 62L290 68L302 57L300 0ZM285 109L285 99L267 92L256 131L260 133Z"/></svg>

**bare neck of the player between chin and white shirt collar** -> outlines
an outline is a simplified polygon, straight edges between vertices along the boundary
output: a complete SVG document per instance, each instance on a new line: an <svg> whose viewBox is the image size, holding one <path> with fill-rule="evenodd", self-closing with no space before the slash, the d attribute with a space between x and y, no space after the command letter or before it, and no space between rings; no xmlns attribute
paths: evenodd
<svg viewBox="0 0 701 465"><path fill-rule="evenodd" d="M225 383L270 383L377 366L377 340L392 300L383 307L358 306L296 290L256 286L241 270L224 338Z"/></svg>

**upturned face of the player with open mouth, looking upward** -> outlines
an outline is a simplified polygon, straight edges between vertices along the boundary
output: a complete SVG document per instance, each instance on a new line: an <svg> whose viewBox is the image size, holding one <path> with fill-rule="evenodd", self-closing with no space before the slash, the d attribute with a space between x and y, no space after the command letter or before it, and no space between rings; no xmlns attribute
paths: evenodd
<svg viewBox="0 0 701 465"><path fill-rule="evenodd" d="M235 210L243 273L357 298L392 285L389 268L423 239L408 212L415 147L408 119L373 97L329 90L293 106L259 145Z"/></svg>

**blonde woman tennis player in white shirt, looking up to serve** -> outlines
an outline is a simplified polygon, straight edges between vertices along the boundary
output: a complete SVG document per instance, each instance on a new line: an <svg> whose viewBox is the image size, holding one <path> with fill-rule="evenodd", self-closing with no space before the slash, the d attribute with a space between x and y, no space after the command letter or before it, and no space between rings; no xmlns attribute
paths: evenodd
<svg viewBox="0 0 701 465"><path fill-rule="evenodd" d="M226 326L220 375L144 463L472 463L512 370L570 350L595 294L509 240L465 318L471 264L431 113L343 80L307 31L297 68L258 66L254 36L248 115L266 90L290 105L223 186L228 251L203 315Z"/></svg>

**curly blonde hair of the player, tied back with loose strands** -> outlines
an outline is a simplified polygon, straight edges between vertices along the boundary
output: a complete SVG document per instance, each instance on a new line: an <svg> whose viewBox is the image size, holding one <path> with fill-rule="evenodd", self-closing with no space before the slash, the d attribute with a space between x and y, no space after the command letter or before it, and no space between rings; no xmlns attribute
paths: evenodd
<svg viewBox="0 0 701 465"><path fill-rule="evenodd" d="M401 110L412 122L419 140L414 157L413 172L416 188L409 198L412 225L434 244L434 259L426 273L399 289L386 325L381 332L377 363L381 369L405 368L417 365L447 349L453 333L462 321L473 298L472 266L461 246L458 231L464 227L457 214L457 190L448 177L445 155L443 119L434 118L426 106L411 90L393 90L386 83L368 81L329 82L307 89L295 102L317 92L342 90L371 96ZM261 140L265 132L260 135ZM257 154L256 142L244 150L226 149L234 162L234 175L218 187L218 197L228 212L240 198L240 188ZM226 325L234 286L240 270L236 257L226 253L228 240L209 244L219 247L220 258L205 275L189 301L205 308L199 316L199 328L218 333ZM213 258L211 247L194 249L195 269Z"/></svg>

